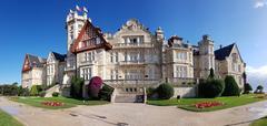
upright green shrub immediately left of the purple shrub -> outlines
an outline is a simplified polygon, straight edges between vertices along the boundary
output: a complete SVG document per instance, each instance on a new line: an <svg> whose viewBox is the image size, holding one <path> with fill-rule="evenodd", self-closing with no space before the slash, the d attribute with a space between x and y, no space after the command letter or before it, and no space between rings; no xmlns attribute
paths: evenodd
<svg viewBox="0 0 267 126"><path fill-rule="evenodd" d="M82 98L83 78L73 76L71 78L70 95L75 98Z"/></svg>

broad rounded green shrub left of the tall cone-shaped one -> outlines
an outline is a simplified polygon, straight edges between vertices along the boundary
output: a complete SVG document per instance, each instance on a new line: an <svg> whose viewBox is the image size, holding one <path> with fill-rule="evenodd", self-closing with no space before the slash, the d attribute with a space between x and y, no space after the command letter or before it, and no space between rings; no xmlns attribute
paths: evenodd
<svg viewBox="0 0 267 126"><path fill-rule="evenodd" d="M210 78L201 81L198 85L199 95L207 98L214 98L221 95L225 90L224 81Z"/></svg>

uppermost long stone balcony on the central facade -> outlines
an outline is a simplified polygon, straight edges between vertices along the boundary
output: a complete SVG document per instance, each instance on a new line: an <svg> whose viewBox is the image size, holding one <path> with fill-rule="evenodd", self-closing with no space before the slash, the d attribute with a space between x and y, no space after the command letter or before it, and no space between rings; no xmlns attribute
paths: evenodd
<svg viewBox="0 0 267 126"><path fill-rule="evenodd" d="M152 43L116 43L113 44L113 49L132 49L132 48L154 48Z"/></svg>

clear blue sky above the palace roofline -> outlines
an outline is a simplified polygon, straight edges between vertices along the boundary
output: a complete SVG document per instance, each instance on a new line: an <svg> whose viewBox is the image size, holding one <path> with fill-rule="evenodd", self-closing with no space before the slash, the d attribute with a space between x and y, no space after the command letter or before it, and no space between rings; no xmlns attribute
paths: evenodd
<svg viewBox="0 0 267 126"><path fill-rule="evenodd" d="M196 44L210 34L218 48L236 42L248 71L267 76L266 0L1 0L0 84L19 82L26 53L66 52L69 9L86 6L95 25L116 32L135 18L150 31L161 27ZM263 82L260 82L263 83Z"/></svg>

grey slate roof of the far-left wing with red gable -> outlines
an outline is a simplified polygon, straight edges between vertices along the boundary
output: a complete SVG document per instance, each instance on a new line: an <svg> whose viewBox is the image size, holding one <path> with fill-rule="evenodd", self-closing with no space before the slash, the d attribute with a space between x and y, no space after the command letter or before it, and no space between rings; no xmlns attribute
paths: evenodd
<svg viewBox="0 0 267 126"><path fill-rule="evenodd" d="M37 66L37 67L42 67L43 64L47 62L46 59L42 59L40 56L27 54L29 59L30 66Z"/></svg>

